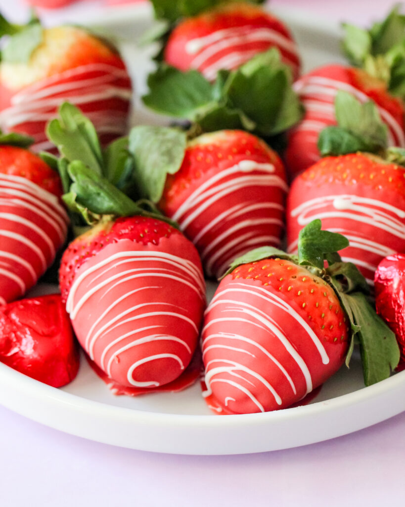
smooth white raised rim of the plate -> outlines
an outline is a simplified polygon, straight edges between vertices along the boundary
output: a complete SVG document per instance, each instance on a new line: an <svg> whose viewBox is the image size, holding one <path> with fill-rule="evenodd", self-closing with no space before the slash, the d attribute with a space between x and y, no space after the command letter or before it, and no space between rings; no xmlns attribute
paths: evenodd
<svg viewBox="0 0 405 507"><path fill-rule="evenodd" d="M268 6L266 7L268 8ZM300 29L305 31L322 34L322 37L333 39L335 42L339 38L340 30L336 22L313 15L310 17L308 17L308 15L303 16L303 14L305 14L303 10L295 10L294 12L290 12L284 8L270 10L286 21L287 24L299 26ZM151 13L152 9L148 4L134 5L130 8L128 6L119 6L108 8L108 10L103 13L95 15L93 19L89 20L86 24L89 26L96 26L103 23L103 27L107 28L108 26L119 23L128 25L133 22L132 15L136 16L137 22L149 22L151 20ZM319 21L320 19L321 22ZM294 32L294 28L292 31ZM405 410L405 397L402 396L401 398L400 396L396 396L396 399L393 400L396 392L401 390L403 392L405 387L405 371L396 373L390 378L372 386L363 387L326 401L314 402L306 406L287 408L273 412L232 415L230 419L229 417L215 417L215 414L173 414L119 407L87 399L83 396L48 386L2 363L0 363L0 385L9 386L8 390L0 390L0 404L39 423L46 424L47 426L66 433L74 434L78 437L84 437L106 444L173 454L229 455L298 447L336 438L343 434L371 426ZM386 396L387 394L388 396ZM18 395L18 400L13 398L13 395ZM331 416L333 417L339 409L343 409L344 411L351 407L358 408L361 406L371 409L373 403L381 399L390 402L388 404L389 408L387 408L388 411L383 414L380 412L374 414L371 423L370 420L362 422L363 419L360 417L359 421L355 423L352 422L351 425L346 423L339 431L320 431L316 435L311 434L311 436L309 436L310 432L307 432L306 438L304 440L301 438L300 442L297 440L286 442L280 438L278 442L267 442L264 445L260 443L259 446L257 444L253 445L251 442L238 442L236 447L229 448L226 443L217 442L214 438L214 442L216 443L215 449L213 445L209 448L203 448L198 443L196 443L194 447L187 447L190 446L190 442L192 441L190 435L194 438L195 434L201 431L205 431L206 435L210 437L215 437L213 434L215 431L220 430L221 435L223 434L223 430L236 434L235 432L237 432L237 430L248 426L249 428L255 427L258 431L258 437L261 437L263 431L271 431L273 429L272 426L279 425L280 422L284 422L289 427L291 424L294 424L297 419L311 421L313 418L318 417L328 421L331 420ZM21 403L21 401L23 401L23 403ZM392 403L392 401L396 403ZM43 404L43 410L38 410L38 402ZM65 410L63 411L61 408ZM82 418L81 422L75 420L73 423L69 423L69 418L65 417L66 411L69 415L71 415L73 411L78 418ZM132 424L134 431L136 428L146 431L147 438L144 441L132 440L131 444L129 444L125 439L119 438L119 436L113 438L111 432L104 431L103 434L103 431L99 431L98 428L96 434L89 436L89 427L84 430L83 427L79 429L79 426L80 424L82 424L82 426L89 424L88 419L90 413L95 420L102 415L106 416L109 421L121 420L125 430L128 429L128 425ZM49 422L49 418L52 418L51 423ZM80 422L80 424L78 424L78 422ZM192 431L190 435L184 439L184 442L171 445L170 443L166 443L162 438L156 440L153 431L150 431L150 429L154 430L157 427L160 429L162 423L166 425L165 431L162 433L163 438L166 438L168 430L175 431L179 428L183 429L187 427L188 429L192 429ZM100 426L102 429L103 425L100 424Z"/></svg>

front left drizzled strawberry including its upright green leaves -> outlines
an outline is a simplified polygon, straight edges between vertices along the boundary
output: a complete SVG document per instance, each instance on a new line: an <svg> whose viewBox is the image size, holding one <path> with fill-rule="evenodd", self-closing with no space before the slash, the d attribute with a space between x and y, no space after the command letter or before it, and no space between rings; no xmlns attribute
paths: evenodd
<svg viewBox="0 0 405 507"><path fill-rule="evenodd" d="M205 309L197 250L152 203L126 195L136 192L127 139L102 151L94 127L71 104L48 132L64 155L63 198L76 225L82 215L93 226L69 245L60 267L76 336L109 382L141 390L169 384L191 361ZM78 132L88 134L79 146ZM157 161L166 156L164 141L153 151Z"/></svg>

